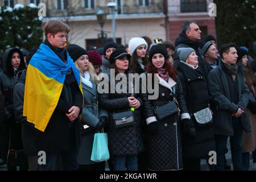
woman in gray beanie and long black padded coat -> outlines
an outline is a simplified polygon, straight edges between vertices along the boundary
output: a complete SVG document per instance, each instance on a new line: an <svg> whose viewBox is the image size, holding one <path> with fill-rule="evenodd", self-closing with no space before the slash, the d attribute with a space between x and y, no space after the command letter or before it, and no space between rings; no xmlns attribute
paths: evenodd
<svg viewBox="0 0 256 182"><path fill-rule="evenodd" d="M207 81L204 72L198 65L197 55L192 48L180 48L180 63L177 66L183 94L189 114L192 115L192 125L195 135L183 130L183 162L185 170L200 170L200 159L208 159L209 151L215 151L213 123L199 125L193 113L209 107Z"/></svg>

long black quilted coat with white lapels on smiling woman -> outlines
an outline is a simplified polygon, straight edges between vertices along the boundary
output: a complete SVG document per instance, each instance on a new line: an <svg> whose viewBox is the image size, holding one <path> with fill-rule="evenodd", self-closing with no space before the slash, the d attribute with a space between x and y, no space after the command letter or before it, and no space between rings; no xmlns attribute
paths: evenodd
<svg viewBox="0 0 256 182"><path fill-rule="evenodd" d="M156 117L154 104L159 101L173 101L174 97L179 103L181 114L187 113L187 106L183 97L183 91L179 80L172 86L170 82L159 78L159 96L156 100L148 100L147 94L142 94L144 117ZM170 78L169 78L170 80ZM148 81L147 81L148 84ZM170 87L169 87L169 86ZM170 89L172 88L172 90ZM172 92L175 88L175 94ZM157 120L158 133L147 133L147 168L152 170L179 170L183 168L181 134L179 114L172 114L163 119Z"/></svg>

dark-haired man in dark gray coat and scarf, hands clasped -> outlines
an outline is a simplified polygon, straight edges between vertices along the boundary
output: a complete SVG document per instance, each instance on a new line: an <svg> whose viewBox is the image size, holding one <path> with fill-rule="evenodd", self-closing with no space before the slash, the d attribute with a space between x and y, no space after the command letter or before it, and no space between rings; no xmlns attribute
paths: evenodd
<svg viewBox="0 0 256 182"><path fill-rule="evenodd" d="M242 130L251 131L245 109L248 104L249 89L238 67L237 51L234 44L220 48L222 60L208 75L209 90L216 108L213 109L214 134L217 150L217 169L224 170L224 155L228 137L232 152L234 170L242 166Z"/></svg>

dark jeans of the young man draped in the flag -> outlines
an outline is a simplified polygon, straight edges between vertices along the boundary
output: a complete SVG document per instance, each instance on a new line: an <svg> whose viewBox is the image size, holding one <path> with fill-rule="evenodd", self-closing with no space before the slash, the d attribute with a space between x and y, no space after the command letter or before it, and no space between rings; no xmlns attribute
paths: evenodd
<svg viewBox="0 0 256 182"><path fill-rule="evenodd" d="M61 156L63 171L77 171L79 150L73 149L67 152L60 152L59 154L47 154L46 164L38 165L39 171L55 171L58 155Z"/></svg>

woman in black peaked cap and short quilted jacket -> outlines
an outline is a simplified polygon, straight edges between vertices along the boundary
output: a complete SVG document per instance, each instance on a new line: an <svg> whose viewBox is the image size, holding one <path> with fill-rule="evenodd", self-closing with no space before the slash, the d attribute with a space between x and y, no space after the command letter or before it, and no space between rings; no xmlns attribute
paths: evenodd
<svg viewBox="0 0 256 182"><path fill-rule="evenodd" d="M108 76L108 93L101 93L101 83L98 86L98 92L101 93L99 95L99 104L102 109L109 111L110 121L108 123L108 142L115 171L125 171L126 169L129 171L137 171L137 155L142 152L144 148L141 136L142 99L139 98L139 95L136 93L129 93L129 71L127 69L129 67L130 57L131 56L125 51L125 49L115 49L109 58L112 68L114 69L110 71L111 76ZM127 78L127 80L124 79L121 81L122 86L120 86L119 80L115 80L115 77L113 77L118 77L118 75ZM105 79L106 77L104 77L104 81L106 81ZM116 89L114 90L114 93L110 92L110 88L112 88L112 86L114 86L114 88L122 87L122 92L120 93ZM111 119L113 118L113 114L130 110L134 110L131 113L134 115L135 122L132 125L116 127L115 121ZM127 122L126 119L127 118L124 115L123 121Z"/></svg>

